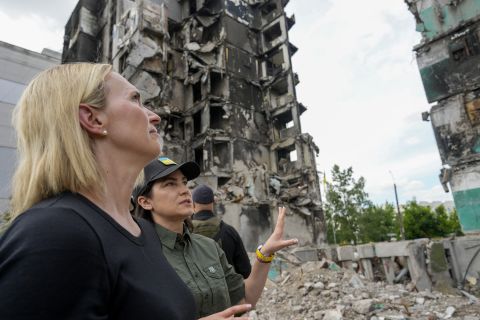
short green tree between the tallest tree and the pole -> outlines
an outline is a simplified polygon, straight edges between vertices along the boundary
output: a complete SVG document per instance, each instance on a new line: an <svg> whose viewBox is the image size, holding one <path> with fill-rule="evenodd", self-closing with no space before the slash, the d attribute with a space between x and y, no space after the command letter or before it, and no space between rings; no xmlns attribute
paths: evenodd
<svg viewBox="0 0 480 320"><path fill-rule="evenodd" d="M399 234L396 211L392 204L371 205L358 220L359 240L366 242L388 241L391 233Z"/></svg>

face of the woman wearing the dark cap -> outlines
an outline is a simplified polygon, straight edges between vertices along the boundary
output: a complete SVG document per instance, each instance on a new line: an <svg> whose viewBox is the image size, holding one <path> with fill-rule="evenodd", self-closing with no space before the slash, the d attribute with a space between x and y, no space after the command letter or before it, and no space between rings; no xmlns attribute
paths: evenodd
<svg viewBox="0 0 480 320"><path fill-rule="evenodd" d="M150 201L155 221L155 216L163 220L183 221L193 214L192 194L187 187L187 178L180 170L154 183Z"/></svg>

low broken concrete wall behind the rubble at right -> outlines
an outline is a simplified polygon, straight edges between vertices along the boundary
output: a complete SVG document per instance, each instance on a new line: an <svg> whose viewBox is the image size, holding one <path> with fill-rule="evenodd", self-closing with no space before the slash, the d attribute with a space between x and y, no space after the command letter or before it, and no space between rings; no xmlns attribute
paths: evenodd
<svg viewBox="0 0 480 320"><path fill-rule="evenodd" d="M324 247L317 256L336 261L369 280L388 284L405 283L417 291L436 290L443 293L463 288L480 293L478 279L480 259L475 249L480 237L416 239L377 242L358 246ZM316 260L314 252L296 256L302 261ZM458 292L457 292L458 293Z"/></svg>

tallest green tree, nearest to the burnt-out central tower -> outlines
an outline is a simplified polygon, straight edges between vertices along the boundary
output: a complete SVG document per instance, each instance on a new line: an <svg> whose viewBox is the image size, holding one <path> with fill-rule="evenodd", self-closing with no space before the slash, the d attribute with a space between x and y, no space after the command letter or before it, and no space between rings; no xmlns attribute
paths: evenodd
<svg viewBox="0 0 480 320"><path fill-rule="evenodd" d="M353 177L353 169L332 168L332 182L327 183L325 215L329 243L357 242L358 219L371 203L365 192L365 179Z"/></svg>

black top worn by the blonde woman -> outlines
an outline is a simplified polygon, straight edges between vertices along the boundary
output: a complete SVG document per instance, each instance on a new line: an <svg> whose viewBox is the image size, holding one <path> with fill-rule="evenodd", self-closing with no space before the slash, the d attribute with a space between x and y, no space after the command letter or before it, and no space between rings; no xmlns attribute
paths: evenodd
<svg viewBox="0 0 480 320"><path fill-rule="evenodd" d="M0 238L0 319L194 319L150 223L135 237L79 194L21 214Z"/></svg>

